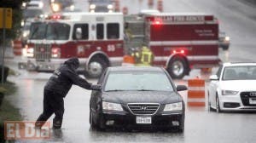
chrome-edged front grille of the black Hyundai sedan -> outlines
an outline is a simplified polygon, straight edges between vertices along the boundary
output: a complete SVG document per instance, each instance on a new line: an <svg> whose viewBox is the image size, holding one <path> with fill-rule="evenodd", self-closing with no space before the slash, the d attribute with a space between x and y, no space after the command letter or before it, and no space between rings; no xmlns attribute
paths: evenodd
<svg viewBox="0 0 256 143"><path fill-rule="evenodd" d="M131 103L128 107L135 115L153 115L157 112L160 104L156 103Z"/></svg>

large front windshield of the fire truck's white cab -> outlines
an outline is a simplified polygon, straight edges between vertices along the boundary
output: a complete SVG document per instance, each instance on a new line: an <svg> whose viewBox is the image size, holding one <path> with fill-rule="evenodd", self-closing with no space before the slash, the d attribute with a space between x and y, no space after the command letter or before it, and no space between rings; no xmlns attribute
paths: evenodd
<svg viewBox="0 0 256 143"><path fill-rule="evenodd" d="M70 26L64 23L35 22L31 26L30 39L67 40Z"/></svg>

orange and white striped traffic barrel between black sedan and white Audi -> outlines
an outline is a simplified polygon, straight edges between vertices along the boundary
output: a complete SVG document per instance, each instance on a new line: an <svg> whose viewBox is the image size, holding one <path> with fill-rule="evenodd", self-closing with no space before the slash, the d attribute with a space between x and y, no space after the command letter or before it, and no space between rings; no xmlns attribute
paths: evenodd
<svg viewBox="0 0 256 143"><path fill-rule="evenodd" d="M188 106L206 106L205 80L200 78L188 81Z"/></svg>

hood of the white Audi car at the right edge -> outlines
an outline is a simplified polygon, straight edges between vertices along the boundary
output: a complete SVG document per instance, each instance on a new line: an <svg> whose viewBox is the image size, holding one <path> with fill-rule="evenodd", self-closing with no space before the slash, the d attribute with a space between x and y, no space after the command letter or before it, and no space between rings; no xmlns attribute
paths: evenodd
<svg viewBox="0 0 256 143"><path fill-rule="evenodd" d="M230 80L222 81L220 83L221 89L246 91L256 90L256 80Z"/></svg>

